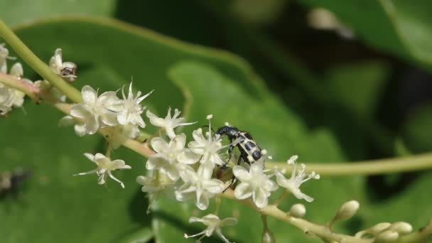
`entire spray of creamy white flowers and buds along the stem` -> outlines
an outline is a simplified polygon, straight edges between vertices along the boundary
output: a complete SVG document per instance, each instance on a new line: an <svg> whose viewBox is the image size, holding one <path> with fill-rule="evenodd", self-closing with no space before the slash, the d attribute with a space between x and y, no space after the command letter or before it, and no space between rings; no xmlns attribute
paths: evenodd
<svg viewBox="0 0 432 243"><path fill-rule="evenodd" d="M6 62L8 59L13 58L9 57L9 51L1 44L0 73L38 87L41 92L39 95L44 95L47 100L65 102L65 96L52 87L48 81L38 80L33 83L31 80L24 79L20 63L14 64L8 74ZM77 78L77 65L63 62L61 49L55 50L55 55L50 59L50 68L68 82ZM124 188L124 183L112 173L117 170L131 169L131 166L126 165L121 159L112 160L111 152L125 141L137 139L141 130L146 128L146 122L141 117L146 107L142 103L152 92L153 90L147 92L146 95L137 92L134 95L132 82L126 88L126 92L125 87L121 87L120 97L119 90L102 92L99 95L98 90L89 85L82 87L82 102L70 105L68 115L60 119L60 125L73 125L78 136L101 133L107 139L107 151L105 154L85 153L85 157L95 163L97 168L75 175L95 173L98 176L99 184L105 184L106 179L111 178ZM21 107L24 96L23 92L0 82L0 114L6 115L13 107ZM186 122L185 118L180 117L178 109L174 109L174 114L171 112L171 108L168 108L166 117L158 117L150 110L146 111L150 124L159 127L159 136L153 136L148 140L154 151L153 154L148 155L145 164L148 174L136 178L136 182L142 185L141 190L148 193L151 200L148 212L151 210L151 205L156 203L161 195L168 192L173 192L175 199L180 202L193 201L199 210L207 210L210 199L219 197L226 190L232 191L237 200L249 200L257 210L264 210L270 205L270 195L279 188L284 190L281 198L291 193L299 200L313 201L313 198L303 193L300 187L308 180L318 180L320 175L315 172L307 174L306 165L303 163L300 164L300 170L298 170L296 162L298 156L291 156L288 159L287 163L288 166L291 166L292 171L291 176L286 178L284 170L277 167L265 169L265 160L271 156L266 156L264 149L261 150L263 156L257 161L254 161L251 155L247 156L247 161L238 154L237 158L235 154L233 156L233 148L242 142L241 139L224 142L227 139L224 139L223 135L212 131L211 114L206 117L209 122L208 130L195 129L192 132L193 140L188 142L187 135L179 133L178 127L190 126L197 122ZM147 144L142 146L147 146ZM246 153L246 151L238 152ZM232 176L221 176L224 174ZM279 200L273 205L277 207ZM335 222L352 217L359 206L359 203L354 200L343 204L333 220L328 223L328 229ZM302 204L293 205L286 213L287 217L293 218L301 218L305 214L306 207ZM199 241L202 237L210 237L215 232L224 242L229 242L222 234L221 228L235 225L237 219L227 217L220 220L218 215L207 214L201 218L190 217L189 222L201 222L207 226L207 229L197 234L185 234L185 238L200 236ZM360 239L366 234L374 234L377 239L397 239L399 235L408 234L411 230L411 225L405 222L382 223L358 232L355 237ZM264 238L272 238L266 226L263 233Z"/></svg>

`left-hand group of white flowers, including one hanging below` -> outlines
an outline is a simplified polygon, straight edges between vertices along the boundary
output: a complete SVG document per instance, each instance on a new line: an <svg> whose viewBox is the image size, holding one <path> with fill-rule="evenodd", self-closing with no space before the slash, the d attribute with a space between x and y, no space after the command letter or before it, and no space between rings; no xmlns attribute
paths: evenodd
<svg viewBox="0 0 432 243"><path fill-rule="evenodd" d="M86 134L95 134L99 129L112 128L107 141L112 148L117 148L123 144L126 139L135 139L139 135L139 127L144 128L146 124L141 117L146 107L141 102L151 94L141 96L138 92L136 96L132 92L132 82L129 85L128 96L124 94L124 87L121 89L123 99L117 97L117 92L109 91L98 95L97 91L89 85L82 87L82 103L73 104L68 116L60 120L61 125L75 124L75 132L78 136ZM111 149L111 148L108 148ZM109 153L110 151L107 151ZM96 163L97 168L93 171L78 173L77 175L87 175L97 173L99 175L99 184L105 183L106 175L109 178L124 184L112 175L112 171L130 169L122 160L111 161L109 156L97 153L93 156L85 153L85 156ZM148 180L143 180L148 181Z"/></svg>

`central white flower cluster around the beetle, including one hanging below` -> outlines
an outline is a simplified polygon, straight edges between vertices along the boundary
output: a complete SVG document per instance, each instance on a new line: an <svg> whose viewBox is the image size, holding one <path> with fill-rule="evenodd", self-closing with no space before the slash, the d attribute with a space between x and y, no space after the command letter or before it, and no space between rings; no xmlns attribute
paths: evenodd
<svg viewBox="0 0 432 243"><path fill-rule="evenodd" d="M157 136L151 139L150 144L156 153L148 158L146 168L151 171L152 176L141 176L137 181L144 185L143 192L161 193L166 188L175 189L175 198L178 201L192 199L200 210L206 210L210 203L210 198L222 193L230 185L230 181L224 182L214 175L217 170L224 168L229 161L222 158L223 151L229 146L235 146L238 141L232 144L222 145L222 138L219 134L212 134L211 119L209 120L208 131L203 134L202 128L193 131L193 141L186 146L186 135L175 134L174 129L178 126L189 125L183 118L178 118L180 112L175 109L174 116L171 117L171 109L168 109L166 117L156 117L147 111L147 117L151 124L160 126L166 131L165 136ZM168 139L168 141L166 140ZM301 165L301 171L296 171L297 156L292 156L288 164L292 166L291 178L284 177L284 171L278 168L264 170L264 156L259 161L248 165L244 163L232 168L232 173L239 180L239 184L234 189L234 196L239 200L252 198L254 204L259 207L268 205L268 198L279 186L293 193L299 199L311 202L313 198L301 193L300 185L306 180L318 179L316 173L306 174L305 166ZM271 180L276 175L276 181ZM163 180L158 180L163 178ZM180 181L180 186L175 186ZM155 200L153 198L153 200ZM232 222L232 220L225 220ZM219 220L216 215L207 215L201 219L192 217L190 222L202 222L208 226L203 232L185 237L210 236L212 232L217 234L225 241L229 242L220 232L220 227L227 225L224 220ZM231 223L229 223L231 225ZM202 238L201 237L201 238ZM200 239L201 239L200 238Z"/></svg>

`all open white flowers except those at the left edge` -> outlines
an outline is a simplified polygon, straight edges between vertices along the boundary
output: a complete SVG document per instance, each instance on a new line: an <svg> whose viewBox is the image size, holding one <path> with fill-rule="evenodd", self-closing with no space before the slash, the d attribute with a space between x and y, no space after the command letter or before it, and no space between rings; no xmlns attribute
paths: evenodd
<svg viewBox="0 0 432 243"><path fill-rule="evenodd" d="M50 66L65 79L72 81L76 77L76 66L63 63L60 49L55 51ZM124 184L112 175L112 171L130 169L131 166L127 166L120 159L112 161L109 154L111 149L117 148L127 139L136 139L139 135L139 129L146 127L146 123L141 117L146 107L141 102L151 92L146 95L137 92L134 95L132 82L129 85L127 95L124 87L121 89L120 98L114 91L103 92L99 95L98 91L89 85L82 87L82 102L73 104L68 116L63 117L60 124L74 124L78 136L95 134L100 131L104 134L109 146L107 146L105 156L102 153L95 155L85 153L85 156L94 162L97 168L76 175L96 173L99 176L99 184L104 184L106 178L109 177L124 188ZM141 175L136 178L136 182L142 185L141 190L148 193L151 202L155 202L159 195L171 188L174 190L176 200L180 202L193 200L200 210L207 210L210 199L223 193L233 184L232 180L222 181L222 178L216 175L220 175L218 172L229 168L227 165L230 161L227 160L231 158L231 154L227 154L228 148L237 146L241 142L241 138L232 139L231 143L223 145L220 134L214 134L212 131L211 114L207 116L207 120L209 120L208 131L203 131L202 128L196 129L192 133L193 141L189 143L187 143L187 136L183 133L176 133L175 129L179 126L195 124L195 122L185 122L185 119L180 117L178 109L174 109L174 114L172 114L171 108L169 108L166 117L157 117L156 114L147 110L146 117L153 126L158 126L161 131L165 131L166 135L155 136L149 143L155 153L149 156L146 161L148 175ZM318 174L306 174L304 164L301 164L300 171L296 171L297 156L288 160L288 164L293 168L289 179L285 178L284 171L278 168L264 170L264 160L270 156L266 156L264 149L261 151L263 156L259 161L250 165L249 163L242 163L233 166L233 178L238 181L234 188L234 196L237 199L252 198L254 205L263 208L269 204L271 193L281 186L286 191L293 193L296 198L305 199L308 202L313 200L302 193L299 187L306 180L318 179ZM252 158L249 157L248 161L252 161ZM274 177L276 177L276 181L272 180ZM152 204L150 203L150 205ZM185 237L209 237L213 232L216 232L224 242L229 242L222 234L220 227L234 225L237 220L234 218L220 220L217 215L210 214L202 218L191 217L190 222L202 222L207 225L207 229L190 236L185 234Z"/></svg>

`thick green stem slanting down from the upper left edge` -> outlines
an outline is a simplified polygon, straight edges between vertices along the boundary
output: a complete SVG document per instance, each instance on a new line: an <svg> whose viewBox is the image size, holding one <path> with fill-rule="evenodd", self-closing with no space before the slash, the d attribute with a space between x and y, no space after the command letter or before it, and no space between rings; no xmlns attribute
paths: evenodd
<svg viewBox="0 0 432 243"><path fill-rule="evenodd" d="M45 80L48 80L52 85L58 88L60 92L63 92L69 99L75 103L82 102L80 91L75 89L63 78L51 70L48 65L43 63L19 38L16 36L11 29L0 19L0 37L4 38L13 50L18 53L21 58L29 65L33 70L38 72Z"/></svg>

